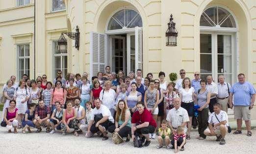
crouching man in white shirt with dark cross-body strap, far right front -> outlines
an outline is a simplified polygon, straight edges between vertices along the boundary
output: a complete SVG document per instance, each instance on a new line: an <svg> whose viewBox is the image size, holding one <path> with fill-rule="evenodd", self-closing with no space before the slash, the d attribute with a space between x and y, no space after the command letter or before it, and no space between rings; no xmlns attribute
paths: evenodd
<svg viewBox="0 0 256 154"><path fill-rule="evenodd" d="M228 132L228 114L221 110L219 103L214 104L214 112L212 112L208 119L208 128L205 129L204 134L206 136L217 136L216 141L221 141L220 145L226 143L225 136Z"/></svg>

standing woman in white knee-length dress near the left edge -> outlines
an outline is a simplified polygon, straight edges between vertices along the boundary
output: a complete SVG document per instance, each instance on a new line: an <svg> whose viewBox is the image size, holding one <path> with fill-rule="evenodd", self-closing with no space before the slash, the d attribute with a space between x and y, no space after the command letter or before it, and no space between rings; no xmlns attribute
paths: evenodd
<svg viewBox="0 0 256 154"><path fill-rule="evenodd" d="M27 110L27 101L29 99L30 93L29 89L26 87L25 81L21 80L20 81L20 87L17 89L17 94L16 94L16 102L17 102L17 109L18 109L18 122L19 126L18 129L21 129L21 121L25 116L25 112Z"/></svg>

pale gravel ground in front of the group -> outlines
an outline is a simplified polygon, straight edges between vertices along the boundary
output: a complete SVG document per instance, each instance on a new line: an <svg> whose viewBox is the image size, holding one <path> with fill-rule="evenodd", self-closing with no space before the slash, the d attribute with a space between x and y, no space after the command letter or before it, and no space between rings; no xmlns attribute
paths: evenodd
<svg viewBox="0 0 256 154"><path fill-rule="evenodd" d="M205 140L197 140L197 132L191 132L191 140L187 141L185 151L182 154L256 154L256 131L252 130L253 136L246 136L246 131L242 134L228 134L226 136L226 145L219 145L216 137L207 137ZM0 128L0 154L18 154L18 153L77 153L77 154L102 154L102 153L140 153L157 154L173 153L173 150L156 149L157 141L153 140L147 148L134 148L132 142L123 145L115 145L109 138L102 141L99 137L85 138L84 134L75 137L73 134L63 136L60 132L54 134L46 133L45 129L40 133L23 134L21 130L17 134L7 133L5 128ZM11 146L13 145L13 146Z"/></svg>

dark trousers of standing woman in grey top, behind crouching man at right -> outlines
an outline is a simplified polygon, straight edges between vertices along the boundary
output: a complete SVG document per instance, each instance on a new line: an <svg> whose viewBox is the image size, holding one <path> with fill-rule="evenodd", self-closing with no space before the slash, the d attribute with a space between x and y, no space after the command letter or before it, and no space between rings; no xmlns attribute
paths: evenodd
<svg viewBox="0 0 256 154"><path fill-rule="evenodd" d="M201 137L206 138L206 135L204 134L205 129L208 126L208 112L209 108L205 108L202 111L198 111L198 133Z"/></svg>

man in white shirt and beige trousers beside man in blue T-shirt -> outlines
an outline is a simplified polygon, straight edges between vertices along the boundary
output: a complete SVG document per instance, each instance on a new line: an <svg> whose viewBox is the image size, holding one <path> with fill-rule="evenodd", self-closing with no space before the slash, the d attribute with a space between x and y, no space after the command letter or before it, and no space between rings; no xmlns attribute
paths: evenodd
<svg viewBox="0 0 256 154"><path fill-rule="evenodd" d="M229 83L225 82L224 75L219 75L219 83L217 86L218 86L217 103L221 105L222 110L228 113L228 103L229 103L231 86Z"/></svg>

